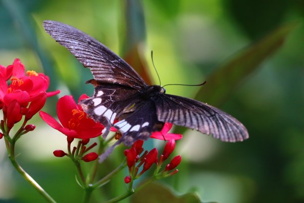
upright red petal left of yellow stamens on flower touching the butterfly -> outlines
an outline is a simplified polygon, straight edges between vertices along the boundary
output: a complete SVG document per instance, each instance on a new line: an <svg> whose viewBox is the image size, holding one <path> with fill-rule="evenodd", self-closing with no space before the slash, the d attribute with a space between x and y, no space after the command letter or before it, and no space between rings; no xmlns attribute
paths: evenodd
<svg viewBox="0 0 304 203"><path fill-rule="evenodd" d="M64 127L69 127L69 120L73 117L72 110L78 109L72 96L64 96L57 102L57 115Z"/></svg>

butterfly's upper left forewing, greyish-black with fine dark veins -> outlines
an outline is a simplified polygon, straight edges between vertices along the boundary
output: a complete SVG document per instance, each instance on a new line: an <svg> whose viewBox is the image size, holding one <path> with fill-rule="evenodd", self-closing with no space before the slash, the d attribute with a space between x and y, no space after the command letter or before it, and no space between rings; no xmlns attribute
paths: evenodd
<svg viewBox="0 0 304 203"><path fill-rule="evenodd" d="M120 84L135 89L146 86L145 81L123 59L93 37L70 25L46 20L45 31L91 70L96 81Z"/></svg>

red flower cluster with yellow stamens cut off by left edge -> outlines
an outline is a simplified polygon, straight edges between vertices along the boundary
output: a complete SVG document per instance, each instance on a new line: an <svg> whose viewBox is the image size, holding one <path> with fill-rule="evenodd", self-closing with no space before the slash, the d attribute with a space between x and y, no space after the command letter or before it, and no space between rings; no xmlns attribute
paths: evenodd
<svg viewBox="0 0 304 203"><path fill-rule="evenodd" d="M49 84L49 77L42 73L27 71L25 75L24 65L19 59L7 67L0 65L0 109L3 109L8 130L23 115L26 123L43 107L47 97L59 94L59 90L47 93Z"/></svg>

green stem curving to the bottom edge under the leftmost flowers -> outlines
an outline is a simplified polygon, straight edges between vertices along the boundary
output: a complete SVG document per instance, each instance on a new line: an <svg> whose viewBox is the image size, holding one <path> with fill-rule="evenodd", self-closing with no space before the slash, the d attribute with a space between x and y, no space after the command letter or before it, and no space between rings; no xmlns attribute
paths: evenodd
<svg viewBox="0 0 304 203"><path fill-rule="evenodd" d="M8 135L7 135L8 137ZM17 137L17 136L14 136ZM14 168L16 169L16 171L33 187L35 188L38 193L45 198L46 201L48 201L49 203L56 203L55 200L53 200L51 198L51 196L49 196L49 194L47 194L47 192L45 192L43 190L43 188L30 176L28 175L22 168L21 166L18 164L18 162L16 161L16 157L15 157L15 140L12 140L12 142L8 142L8 140L5 140L5 144L6 144L6 149L7 149L7 153L8 153L8 158L10 160L10 162L12 163L12 165L14 166Z"/></svg>

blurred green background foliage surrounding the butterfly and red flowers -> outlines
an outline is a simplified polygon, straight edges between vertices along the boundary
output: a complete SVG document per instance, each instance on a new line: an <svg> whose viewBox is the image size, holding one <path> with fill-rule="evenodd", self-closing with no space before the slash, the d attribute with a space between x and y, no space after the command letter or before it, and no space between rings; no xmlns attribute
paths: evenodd
<svg viewBox="0 0 304 203"><path fill-rule="evenodd" d="M50 76L50 90L77 99L92 93L84 85L92 76L44 32L43 20L88 33L147 82L158 84L153 50L162 85L207 80L202 87L168 86L167 93L220 107L250 136L224 143L177 128L184 134L175 150L183 156L182 165L161 182L179 195L196 192L203 202L304 203L303 14L301 0L0 0L0 64L20 58L26 69ZM56 115L57 100L49 99L44 110ZM66 149L66 137L39 116L32 123L35 131L17 143L18 161L58 203L79 202L75 167L52 155ZM163 143L149 141L146 148L152 145ZM100 174L119 164L122 150L111 155ZM126 174L95 191L92 202L124 193ZM125 202L168 192L156 191L151 187ZM10 166L0 140L0 202L43 201Z"/></svg>

